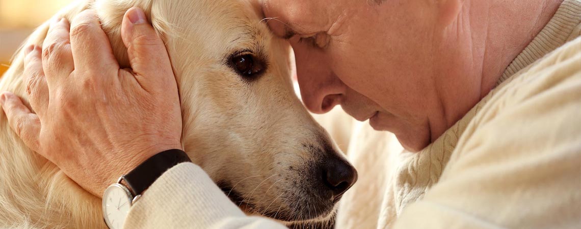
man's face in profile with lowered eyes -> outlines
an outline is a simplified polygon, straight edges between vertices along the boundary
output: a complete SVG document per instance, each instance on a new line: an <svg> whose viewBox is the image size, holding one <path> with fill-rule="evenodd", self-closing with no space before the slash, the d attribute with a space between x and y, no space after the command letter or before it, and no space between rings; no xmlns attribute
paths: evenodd
<svg viewBox="0 0 581 229"><path fill-rule="evenodd" d="M432 49L435 13L429 1L265 0L277 36L295 50L306 107L335 105L375 130L391 131L404 147L431 141L437 104ZM272 17L273 19L268 19Z"/></svg>

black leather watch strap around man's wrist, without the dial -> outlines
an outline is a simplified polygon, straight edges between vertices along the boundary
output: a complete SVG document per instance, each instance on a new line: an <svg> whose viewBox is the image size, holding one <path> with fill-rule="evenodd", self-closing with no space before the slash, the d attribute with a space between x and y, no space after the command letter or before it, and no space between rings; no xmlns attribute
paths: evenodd
<svg viewBox="0 0 581 229"><path fill-rule="evenodd" d="M181 162L191 162L188 154L178 149L167 150L150 157L121 178L129 185L134 196L141 195L167 169Z"/></svg>

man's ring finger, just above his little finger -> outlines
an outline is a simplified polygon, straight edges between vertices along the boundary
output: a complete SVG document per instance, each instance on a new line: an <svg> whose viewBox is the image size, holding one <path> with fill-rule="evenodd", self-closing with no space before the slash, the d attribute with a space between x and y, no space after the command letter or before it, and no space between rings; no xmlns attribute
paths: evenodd
<svg viewBox="0 0 581 229"><path fill-rule="evenodd" d="M24 83L26 93L35 113L42 117L48 107L48 85L42 69L41 48L31 45L26 48L24 57Z"/></svg>

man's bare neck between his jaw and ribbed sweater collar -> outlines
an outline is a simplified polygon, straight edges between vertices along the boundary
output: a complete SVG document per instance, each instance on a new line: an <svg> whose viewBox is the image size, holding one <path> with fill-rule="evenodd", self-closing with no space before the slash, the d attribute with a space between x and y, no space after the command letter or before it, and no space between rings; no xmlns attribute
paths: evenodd
<svg viewBox="0 0 581 229"><path fill-rule="evenodd" d="M431 117L432 141L496 86L505 68L550 21L562 0L465 0L443 30L435 72L441 112ZM452 51L450 51L452 50ZM445 121L442 121L444 119ZM439 121L440 120L440 121Z"/></svg>

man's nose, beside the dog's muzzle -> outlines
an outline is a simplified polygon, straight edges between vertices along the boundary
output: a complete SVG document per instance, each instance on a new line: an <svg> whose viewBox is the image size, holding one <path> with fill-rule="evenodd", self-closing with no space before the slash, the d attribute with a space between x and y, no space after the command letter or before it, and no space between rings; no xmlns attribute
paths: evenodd
<svg viewBox="0 0 581 229"><path fill-rule="evenodd" d="M325 63L322 54L303 56L295 51L295 55L297 80L304 106L313 113L322 114L339 105L346 86Z"/></svg>

